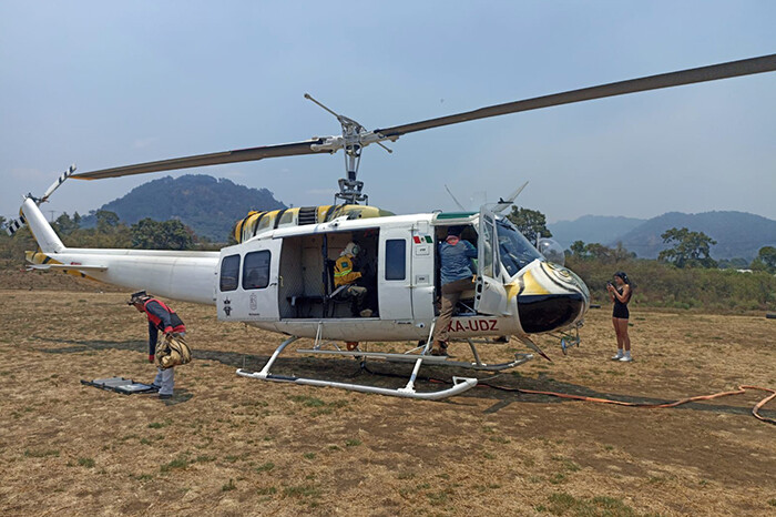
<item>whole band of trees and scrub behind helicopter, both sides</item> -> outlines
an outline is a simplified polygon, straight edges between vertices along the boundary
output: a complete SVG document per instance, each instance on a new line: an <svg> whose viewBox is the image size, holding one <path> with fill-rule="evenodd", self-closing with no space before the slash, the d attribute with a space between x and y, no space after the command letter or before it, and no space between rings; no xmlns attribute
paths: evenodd
<svg viewBox="0 0 776 517"><path fill-rule="evenodd" d="M126 225L110 211L95 212L94 227L82 227L81 216L60 215L52 226L65 245L72 247L113 247L139 250L214 250L217 245L198 237L181 221L144 219ZM547 219L539 211L513 207L509 219L525 237L551 237ZM0 229L8 222L0 216ZM776 249L764 246L751 263L731 260L723 263L709 256L714 240L703 232L671 229L662 234L671 247L657 260L639 258L621 243L605 246L575 241L565 250L566 265L588 284L593 302L607 303L606 282L615 271L624 270L633 278L634 304L673 308L719 311L776 310ZM29 229L9 237L0 232L0 258L21 262L24 251L38 247ZM727 266L723 270L721 267ZM748 266L753 273L737 273Z"/></svg>

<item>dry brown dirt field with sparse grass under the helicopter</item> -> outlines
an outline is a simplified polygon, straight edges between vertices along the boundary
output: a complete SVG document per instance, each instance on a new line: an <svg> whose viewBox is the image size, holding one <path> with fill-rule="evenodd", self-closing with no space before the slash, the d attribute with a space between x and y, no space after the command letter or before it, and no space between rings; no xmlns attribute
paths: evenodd
<svg viewBox="0 0 776 517"><path fill-rule="evenodd" d="M150 382L144 317L125 294L89 291L0 291L2 515L776 513L776 426L749 413L762 392L644 409L488 387L418 402L262 383L235 368L258 369L280 336L172 303L194 362L176 369L172 401L124 396L79 381ZM776 321L636 310L631 323L632 364L609 361L610 311L592 310L581 347L563 356L542 339L553 363L490 382L623 401L776 387ZM275 373L402 384L353 361L285 357ZM467 375L421 369L451 373Z"/></svg>

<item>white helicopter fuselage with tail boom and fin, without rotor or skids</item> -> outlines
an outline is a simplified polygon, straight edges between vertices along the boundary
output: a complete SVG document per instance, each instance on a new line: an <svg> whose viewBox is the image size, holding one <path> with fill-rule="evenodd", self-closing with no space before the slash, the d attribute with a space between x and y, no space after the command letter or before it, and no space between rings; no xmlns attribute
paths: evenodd
<svg viewBox="0 0 776 517"><path fill-rule="evenodd" d="M589 307L584 284L549 264L507 221L480 213L425 213L267 230L221 252L65 247L32 200L22 206L41 252L35 268L57 268L156 296L213 304L218 318L295 335L338 341L429 337L439 286L438 242L451 225L477 242L477 283L453 317L453 338L551 332L579 322ZM367 288L361 317L333 282L349 242ZM509 247L517 242L519 250ZM515 256L524 254L524 256Z"/></svg>

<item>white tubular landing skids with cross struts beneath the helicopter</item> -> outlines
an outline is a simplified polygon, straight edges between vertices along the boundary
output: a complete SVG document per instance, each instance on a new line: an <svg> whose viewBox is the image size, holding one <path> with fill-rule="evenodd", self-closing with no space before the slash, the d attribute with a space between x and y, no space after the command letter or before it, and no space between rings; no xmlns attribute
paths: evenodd
<svg viewBox="0 0 776 517"><path fill-rule="evenodd" d="M280 346L275 349L269 361L264 365L261 372L254 372L245 368L237 369L237 375L248 378L257 378L259 381L273 381L276 383L294 383L307 386L318 386L318 387L335 387L340 389L348 389L351 392L360 393L374 393L378 395L388 395L394 397L405 397L405 398L418 398L423 401L439 401L455 395L460 395L464 392L477 386L477 379L471 377L452 377L452 386L447 389L440 389L437 392L417 392L415 389L415 382L418 377L418 371L420 366L426 364L429 366L455 366L460 368L470 368L478 371L498 372L507 368L513 368L533 358L532 354L514 354L514 361L508 363L499 364L486 364L480 361L480 356L477 352L477 347L471 339L469 346L471 347L472 354L474 355L473 362L462 362L462 361L451 361L448 357L432 356L429 354L430 348L428 345L413 348L405 354L396 353L381 353L381 352L361 352L358 349L344 351L339 349L337 345L334 345L336 349L323 349L321 342L316 339L316 345L313 348L300 348L297 352L303 354L321 354L321 355L337 355L337 356L348 356L361 361L361 365L366 363L368 358L382 359L391 363L415 363L415 368L412 368L412 374L410 375L407 385L401 388L382 388L376 386L368 386L364 384L353 384L353 383L338 383L334 381L315 379L306 377L297 377L289 375L277 375L269 372L277 357L283 353L283 351L297 341L298 337L292 336L284 341ZM419 353L418 353L419 352Z"/></svg>

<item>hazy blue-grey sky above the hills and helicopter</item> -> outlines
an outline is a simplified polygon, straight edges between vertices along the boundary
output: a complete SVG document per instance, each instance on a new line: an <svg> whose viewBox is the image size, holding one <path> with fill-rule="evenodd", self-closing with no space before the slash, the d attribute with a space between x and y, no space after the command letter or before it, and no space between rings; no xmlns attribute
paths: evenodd
<svg viewBox="0 0 776 517"><path fill-rule="evenodd" d="M285 6L280 6L285 3ZM368 129L776 53L773 1L0 3L0 214L80 172ZM776 73L408 134L364 152L370 204L489 201L524 181L550 221L738 210L776 219ZM335 155L69 181L85 213L165 174L331 202Z"/></svg>

